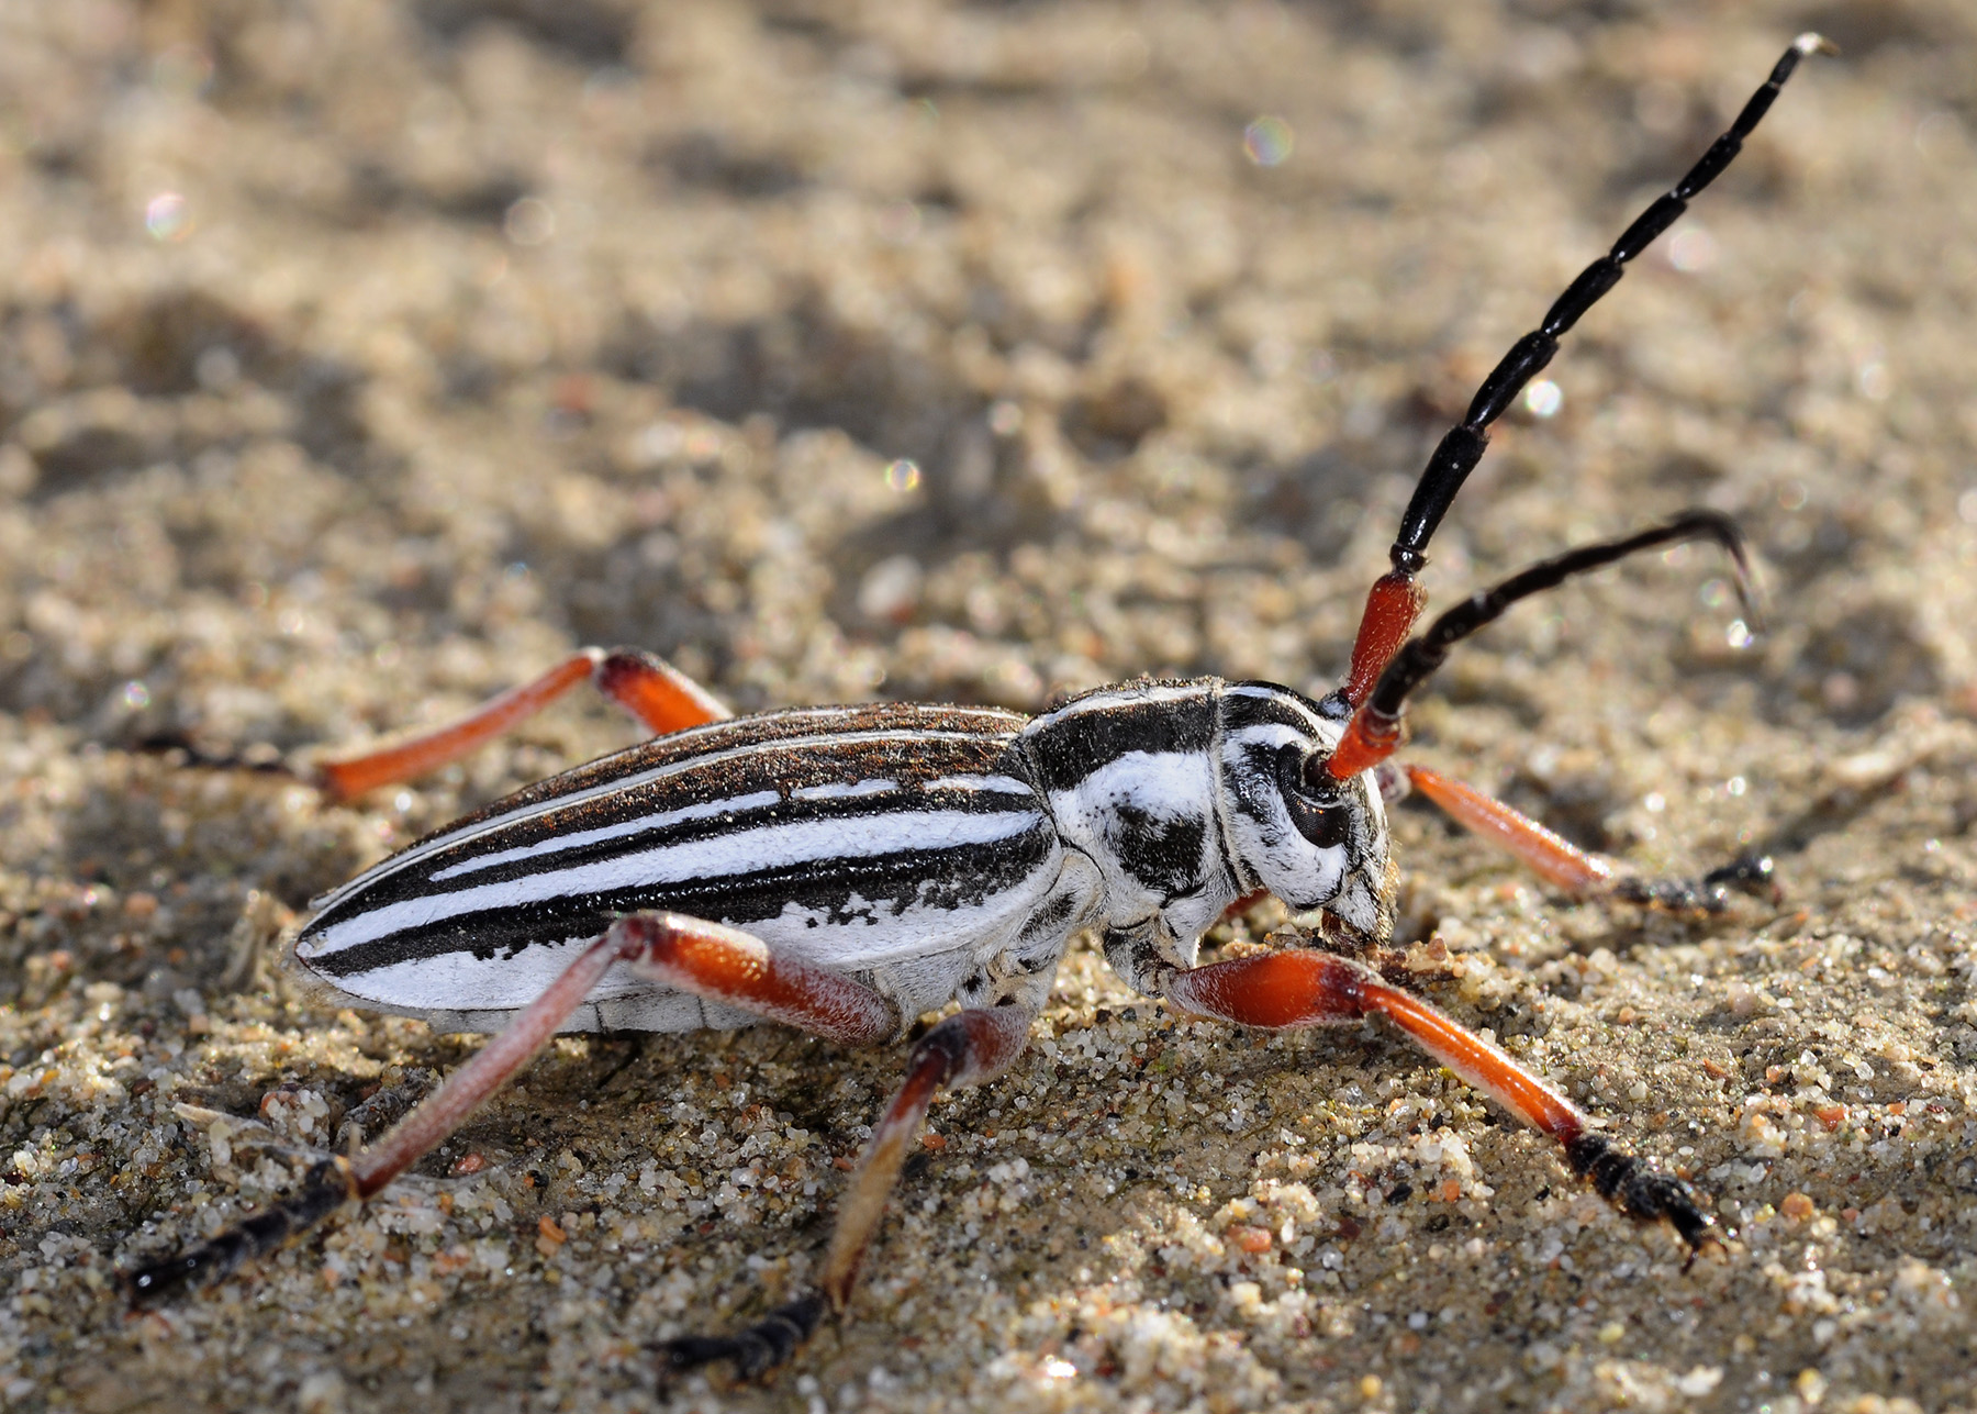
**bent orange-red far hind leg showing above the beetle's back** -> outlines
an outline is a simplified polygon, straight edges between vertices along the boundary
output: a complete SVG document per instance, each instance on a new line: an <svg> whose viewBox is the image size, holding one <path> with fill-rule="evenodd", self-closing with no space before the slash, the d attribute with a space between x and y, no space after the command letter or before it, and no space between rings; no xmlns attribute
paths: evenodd
<svg viewBox="0 0 1977 1414"><path fill-rule="evenodd" d="M463 722L382 751L322 761L316 765L316 781L330 797L348 801L380 785L437 771L536 716L585 678L658 736L733 716L712 692L664 659L631 649L609 655L583 649L534 682L502 692Z"/></svg>

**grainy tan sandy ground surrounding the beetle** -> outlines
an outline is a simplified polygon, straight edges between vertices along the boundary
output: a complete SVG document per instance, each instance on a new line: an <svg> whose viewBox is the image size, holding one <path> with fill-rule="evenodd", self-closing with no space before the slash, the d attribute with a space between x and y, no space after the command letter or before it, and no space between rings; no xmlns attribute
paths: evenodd
<svg viewBox="0 0 1977 1414"><path fill-rule="evenodd" d="M633 732L571 704L356 807L142 740L350 746L577 643L743 708L1323 690L1477 378L1807 26L1847 55L1427 574L1712 504L1769 635L1716 558L1635 564L1491 631L1414 748L1645 870L1763 844L1785 902L1574 906L1396 817L1421 989L1714 1194L1726 1260L1378 1026L1178 1022L1079 949L763 1388L656 1392L645 1345L811 1270L898 1054L559 1042L362 1216L127 1315L121 1266L474 1046L287 985L306 900ZM0 1400L1977 1408L1973 40L1959 0L0 4Z"/></svg>

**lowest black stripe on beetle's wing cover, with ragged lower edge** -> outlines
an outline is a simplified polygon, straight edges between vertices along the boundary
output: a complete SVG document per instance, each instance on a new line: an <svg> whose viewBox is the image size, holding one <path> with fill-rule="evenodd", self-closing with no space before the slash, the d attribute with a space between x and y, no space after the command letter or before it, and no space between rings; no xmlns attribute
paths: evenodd
<svg viewBox="0 0 1977 1414"><path fill-rule="evenodd" d="M308 957L306 963L326 977L356 977L445 953L512 957L536 943L597 937L623 914L660 908L733 928L779 918L787 906L822 914L813 926L876 922L884 914L898 918L907 908L951 912L1016 888L1054 848L1056 833L1038 821L1022 835L977 844L813 860L658 888L631 886L474 910Z"/></svg>

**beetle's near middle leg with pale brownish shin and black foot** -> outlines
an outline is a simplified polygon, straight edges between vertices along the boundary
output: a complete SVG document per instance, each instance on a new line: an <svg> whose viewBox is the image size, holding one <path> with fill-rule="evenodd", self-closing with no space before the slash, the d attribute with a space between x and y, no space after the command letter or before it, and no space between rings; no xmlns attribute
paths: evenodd
<svg viewBox="0 0 1977 1414"><path fill-rule="evenodd" d="M686 1335L662 1343L658 1349L672 1369L692 1370L714 1361L733 1361L737 1374L753 1378L787 1361L826 1309L842 1313L850 1305L858 1268L886 1212L900 1165L927 1119L935 1092L941 1086L979 1086L1000 1076L1022 1054L1034 1018L1036 1013L1028 1007L987 1007L957 1013L921 1036L907 1054L905 1084L894 1092L874 1125L852 1187L838 1206L838 1226L830 1234L818 1289L775 1307L737 1335Z"/></svg>

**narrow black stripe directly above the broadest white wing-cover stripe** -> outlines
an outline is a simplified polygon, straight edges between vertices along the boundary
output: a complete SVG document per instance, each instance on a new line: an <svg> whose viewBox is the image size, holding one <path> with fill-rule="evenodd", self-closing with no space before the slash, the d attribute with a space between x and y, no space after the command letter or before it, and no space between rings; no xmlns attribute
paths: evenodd
<svg viewBox="0 0 1977 1414"><path fill-rule="evenodd" d="M1008 815L1012 821L1020 819L1040 819L1042 807L1034 797L1014 797L990 791L874 791L872 795L838 795L828 799L809 799L791 801L783 799L775 805L759 805L749 811L735 811L724 815L708 815L692 821L678 821L674 825L652 827L645 831L631 831L625 835L615 835L609 839L589 840L585 844L573 844L559 848L552 854L532 854L524 858L504 860L500 864L488 864L484 868L465 870L449 878L435 878L435 874L445 874L449 868L473 862L484 854L494 854L506 848L538 844L544 839L554 839L563 833L563 829L548 831L528 831L526 837L518 833L514 839L506 831L496 835L484 835L471 842L463 842L457 848L439 850L427 858L417 860L413 866L395 870L391 874L382 874L376 882L362 890L356 890L348 898L338 900L330 908L324 908L316 920L304 931L308 935L320 933L326 926L344 924L354 918L362 918L378 908L387 908L391 904L401 904L409 898L433 898L441 900L449 894L457 894L471 888L482 888L488 884L506 884L516 880L534 878L540 874L561 874L563 870L581 868L587 864L599 864L613 858L625 858L631 854L652 854L656 850L674 848L682 844L698 844L704 840L714 840L724 835L739 835L743 831L759 831L769 835L765 840L757 840L757 850L753 860L745 860L755 868L775 868L779 860L775 858L775 839L773 831L785 825L809 825L817 821L870 821L884 815L898 815L905 819L927 815L929 811L947 811L957 815ZM613 811L605 823L619 823L625 819L637 819L648 811ZM656 811L652 811L656 815ZM534 823L534 821L532 821ZM583 825L567 825L569 833L585 829Z"/></svg>

